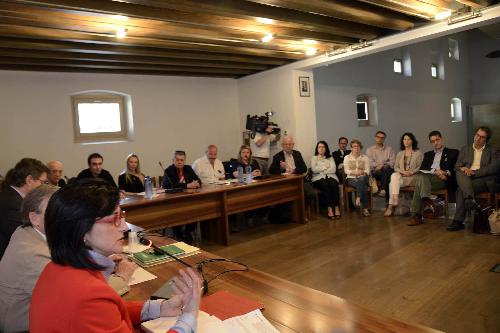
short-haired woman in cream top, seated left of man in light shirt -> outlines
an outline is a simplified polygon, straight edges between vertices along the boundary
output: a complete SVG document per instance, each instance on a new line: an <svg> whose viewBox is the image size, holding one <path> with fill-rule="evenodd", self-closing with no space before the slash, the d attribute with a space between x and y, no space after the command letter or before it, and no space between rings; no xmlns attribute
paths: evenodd
<svg viewBox="0 0 500 333"><path fill-rule="evenodd" d="M368 210L368 175L370 174L370 161L366 155L361 154L363 145L361 141L351 141L351 153L344 158L344 172L346 182L356 189L356 207L361 207L364 216L370 216Z"/></svg>

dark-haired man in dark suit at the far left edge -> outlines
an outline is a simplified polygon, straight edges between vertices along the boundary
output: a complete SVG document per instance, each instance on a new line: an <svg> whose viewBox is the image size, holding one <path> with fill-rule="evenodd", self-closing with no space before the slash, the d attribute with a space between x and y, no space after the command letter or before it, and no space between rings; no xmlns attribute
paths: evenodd
<svg viewBox="0 0 500 333"><path fill-rule="evenodd" d="M0 192L0 258L10 236L22 224L19 212L23 198L47 181L48 171L39 160L23 158L7 173Z"/></svg>

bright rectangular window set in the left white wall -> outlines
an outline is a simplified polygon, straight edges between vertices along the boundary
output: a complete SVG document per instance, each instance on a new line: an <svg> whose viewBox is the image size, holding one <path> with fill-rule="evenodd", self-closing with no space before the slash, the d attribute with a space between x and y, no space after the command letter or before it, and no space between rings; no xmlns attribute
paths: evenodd
<svg viewBox="0 0 500 333"><path fill-rule="evenodd" d="M75 142L128 140L131 114L128 112L126 97L102 91L73 95L71 100Z"/></svg>

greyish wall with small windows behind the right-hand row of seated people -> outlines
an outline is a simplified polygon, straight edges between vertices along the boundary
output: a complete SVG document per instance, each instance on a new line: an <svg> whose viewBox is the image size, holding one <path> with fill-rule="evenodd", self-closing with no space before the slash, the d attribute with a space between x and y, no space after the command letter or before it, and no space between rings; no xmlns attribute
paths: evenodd
<svg viewBox="0 0 500 333"><path fill-rule="evenodd" d="M469 103L467 38L465 34L450 37L459 41L458 62L448 58L447 38L440 38L315 69L318 139L336 148L339 136L358 138L366 148L373 144L375 132L383 130L387 143L399 150L401 134L410 131L428 150L427 134L437 129L449 146L465 144L465 115L463 122L451 123L450 99L459 97L464 108ZM411 77L392 70L393 59L406 51L412 59ZM445 55L445 80L430 76L430 65L439 55ZM355 100L359 94L377 98L377 127L358 127Z"/></svg>

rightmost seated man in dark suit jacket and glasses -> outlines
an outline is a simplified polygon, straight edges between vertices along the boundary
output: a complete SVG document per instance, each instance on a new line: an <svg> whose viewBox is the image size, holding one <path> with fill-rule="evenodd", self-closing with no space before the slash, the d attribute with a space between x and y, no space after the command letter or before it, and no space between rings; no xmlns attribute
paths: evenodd
<svg viewBox="0 0 500 333"><path fill-rule="evenodd" d="M474 133L474 143L460 150L455 166L458 184L457 210L453 221L446 228L448 231L464 228L466 210L478 207L474 201L474 194L496 192L500 164L495 150L488 144L490 138L490 128L479 127Z"/></svg>

